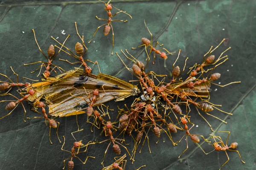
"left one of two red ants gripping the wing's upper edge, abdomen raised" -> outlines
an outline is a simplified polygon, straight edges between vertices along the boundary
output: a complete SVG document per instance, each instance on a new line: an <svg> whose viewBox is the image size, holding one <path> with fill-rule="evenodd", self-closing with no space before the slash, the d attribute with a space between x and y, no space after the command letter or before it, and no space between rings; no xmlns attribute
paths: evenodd
<svg viewBox="0 0 256 170"><path fill-rule="evenodd" d="M33 31L34 37L35 37L35 30L32 29L32 31ZM70 35L67 36L66 40L68 39L69 36L70 36ZM66 42L66 40L63 42L63 44ZM36 42L36 44L38 45L38 42L37 42L37 40L36 40L36 37L35 37L35 42ZM45 70L44 73L43 73L44 77L49 77L49 76L50 76L51 72L50 72L49 70L50 70L50 68L51 68L51 65L53 65L54 68L55 68L55 67L58 68L59 71L61 71L61 70L64 71L61 67L58 67L57 65L52 64L53 59L55 59L55 57L57 57L57 55L60 53L62 46L61 46L60 50L58 51L58 53L54 56L54 54L55 54L54 46L53 46L53 45L50 45L49 48L48 48L48 51L47 51L47 54L48 54L49 58L44 54L44 52L41 50L41 48L40 48L39 45L38 45L38 48L39 48L39 51L41 51L41 53L44 55L44 57L48 60L48 62L38 61L38 62L33 62L33 63L29 63L29 64L24 64L24 65L32 65L32 64L36 64L36 63L42 62L42 65L40 65L35 71L37 71L39 68L42 69L42 67L43 67L43 65L44 65L44 67L46 68L46 70ZM45 64L47 64L47 66L46 66ZM55 71L54 68L52 68L52 71ZM41 69L40 69L39 74L41 73ZM60 69L61 69L61 70L60 70ZM34 73L35 71L32 71L31 73ZM55 71L55 73L57 74L56 71ZM37 75L37 77L39 76L39 74Z"/></svg>

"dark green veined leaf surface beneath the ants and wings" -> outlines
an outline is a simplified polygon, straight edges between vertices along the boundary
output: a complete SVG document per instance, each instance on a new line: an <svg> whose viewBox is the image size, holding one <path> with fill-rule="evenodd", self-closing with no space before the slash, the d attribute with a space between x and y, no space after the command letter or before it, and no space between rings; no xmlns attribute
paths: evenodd
<svg viewBox="0 0 256 170"><path fill-rule="evenodd" d="M87 2L70 2L65 0L53 1L25 1L24 0L3 0L0 5L0 73L8 75L15 80L9 66L20 74L21 77L36 79L37 74L30 74L30 71L37 68L36 65L23 66L23 63L45 60L35 44L32 34L32 28L35 29L37 39L42 50L46 53L50 44L55 42L50 38L59 37L59 41L64 41L67 34L71 34L67 41L67 46L74 51L74 45L79 40L76 35L74 22L78 23L79 32L84 34L84 40L89 41L96 27L102 25L104 21L96 20L97 15L100 18L107 18L104 11L104 4L99 1ZM154 38L170 51L182 50L181 57L177 65L183 65L186 57L189 57L187 67L200 63L202 56L209 50L211 45L216 46L223 38L229 38L228 45L219 48L215 55L224 51L228 46L232 49L227 52L229 60L220 65L216 71L221 73L222 85L232 81L241 80L241 84L230 85L225 88L212 86L211 102L223 105L224 111L233 111L233 116L227 116L227 125L221 125L219 130L229 130L231 132L230 141L238 142L238 150L242 159L246 162L243 164L237 153L228 153L230 161L223 167L228 169L255 169L255 48L256 48L256 9L255 0L208 0L208 1L151 1L151 0L129 0L127 2L113 1L117 8L127 11L132 15L131 20L125 14L118 14L116 19L127 19L127 23L113 23L115 33L114 52L126 48L138 56L142 49L131 50L141 44L141 37L148 37L149 34L144 28L146 20L149 29ZM114 10L113 10L114 11ZM224 28L224 30L223 30ZM61 34L65 30L66 35ZM24 34L22 33L24 31ZM88 51L85 58L93 61L97 60L100 64L102 73L114 75L126 81L133 79L132 74L122 69L123 65L116 55L111 56L111 35L105 37L102 29L96 34L95 43L87 45ZM122 56L122 55L121 55ZM167 60L168 68L172 68L177 53L174 57L169 56ZM124 56L122 56L124 57ZM70 59L69 56L61 53L57 58ZM145 54L140 55L140 59L145 59ZM72 60L72 59L70 59ZM73 59L72 61L76 61ZM128 60L125 60L129 63ZM54 61L55 64L69 70L73 65L65 62ZM231 66L233 65L233 66ZM38 65L39 66L39 65ZM131 67L131 65L129 65ZM163 68L163 60L156 58L156 64L149 64L147 71L155 71L158 74L168 74ZM229 71L227 71L229 70ZM93 73L97 73L96 69ZM5 81L6 79L1 80ZM215 91L215 89L218 89ZM15 94L15 90L12 91ZM15 94L18 96L17 94ZM11 99L11 97L2 96L1 99ZM132 102L128 98L125 102L115 103L108 102L111 108L117 110L116 105L122 106L124 103ZM7 112L4 110L5 103L0 103L2 108L1 116ZM29 106L24 102L27 115L38 116L29 110ZM111 113L112 117L116 112ZM225 118L224 113L213 111L212 114ZM211 131L208 125L195 112L191 113L191 121L199 127L194 127L191 132L209 136ZM218 127L220 121L205 116L213 127ZM61 151L61 144L58 143L55 130L52 130L53 144L49 143L49 127L46 127L43 119L28 120L23 122L23 109L20 106L12 115L0 120L0 169L61 169L62 160L70 156L68 153ZM64 146L70 150L74 142L71 132L77 129L76 118L74 116L58 119L61 123L59 135L65 135L67 144ZM85 115L79 116L79 124L85 130L77 133L77 139L84 142L103 138L99 135L100 130L95 129L94 133L90 132L90 125L83 123L86 121ZM173 136L175 141L183 135L179 132ZM220 134L225 139L225 134ZM173 147L167 136L162 134L160 142L156 145L157 137L153 133L149 135L152 153L148 152L145 145L143 153L137 154L134 164L128 160L126 169L135 169L143 164L147 170L217 170L226 160L224 152L213 152L207 156L201 150L194 150L196 145L189 140L189 150L181 157L178 155L186 148L186 142L183 140L178 146ZM61 137L61 140L62 137ZM165 141L163 143L163 141ZM130 143L128 149L131 150L133 142L131 137L127 138ZM96 144L89 148L89 152L80 155L84 160L86 156L96 156L96 159L89 159L87 164L83 165L75 159L75 169L100 169L103 152L108 142L105 144ZM213 147L207 144L203 145L206 151ZM121 148L122 154L125 150ZM107 153L105 163L111 164L113 153L110 148Z"/></svg>

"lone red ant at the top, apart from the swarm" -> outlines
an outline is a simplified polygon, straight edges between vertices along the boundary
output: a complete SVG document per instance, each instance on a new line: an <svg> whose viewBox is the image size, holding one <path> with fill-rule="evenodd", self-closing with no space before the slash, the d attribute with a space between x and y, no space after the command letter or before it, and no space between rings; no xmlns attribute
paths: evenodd
<svg viewBox="0 0 256 170"><path fill-rule="evenodd" d="M101 0L99 0L100 2L102 2L102 3L105 3L105 2L103 2L103 1L101 1ZM112 46L113 46L113 48L112 48L112 53L111 53L111 55L113 55L113 51L114 51L114 32L113 32L113 26L112 26L112 24L111 24L111 22L113 22L113 21L120 21L120 22L127 22L127 20L112 20L111 19L111 17L114 17L116 14L118 14L118 13L120 13L120 12L122 12L122 13L125 13L125 14L127 14L125 11L121 11L120 9L118 9L118 8L116 8L116 7L114 7L114 6L112 6L111 5L111 3L110 3L110 1L111 0L109 0L108 1L108 3L105 3L105 11L108 13L108 20L106 20L106 19L101 19L101 18L98 18L97 16L96 16L96 18L98 19L98 20L104 20L104 21L108 21L108 23L105 23L105 24L103 24L102 26L105 26L104 27L104 30L103 30L103 34L105 35L105 36L107 36L108 34L109 34L109 32L110 32L110 29L112 30ZM112 13L111 13L111 10L112 10L112 7L113 8L115 8L115 9L117 9L119 12L116 12L116 14L113 14L112 15ZM129 14L127 14L129 17L131 17L131 15L129 15ZM132 17L131 17L131 19L132 19ZM96 29L96 31L94 32L94 34L93 34L93 37L95 36L95 34L96 34L96 32L98 31L98 29L100 28L100 27L102 27L102 26L99 26L97 29ZM90 42L93 40L93 38L88 42L89 44L90 44Z"/></svg>

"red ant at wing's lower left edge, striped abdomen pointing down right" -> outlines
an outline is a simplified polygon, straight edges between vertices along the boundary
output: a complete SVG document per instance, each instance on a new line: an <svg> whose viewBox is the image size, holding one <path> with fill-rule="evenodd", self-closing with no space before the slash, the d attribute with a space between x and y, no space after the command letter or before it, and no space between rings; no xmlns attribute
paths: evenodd
<svg viewBox="0 0 256 170"><path fill-rule="evenodd" d="M42 109L42 115L44 115L44 117L32 117L32 118L27 117L27 119L44 118L46 125L47 125L46 121L48 120L49 127L50 127L50 130L49 130L49 140L50 140L50 142L52 144L52 141L51 141L51 128L55 128L55 129L57 128L56 133L57 133L57 136L58 136L58 127L59 127L60 123L55 121L54 119L49 119L48 118L48 116L46 114L46 111L45 111L45 104L43 102L38 102L38 108ZM58 140L61 143L61 140L59 139L59 137L58 137Z"/></svg>

